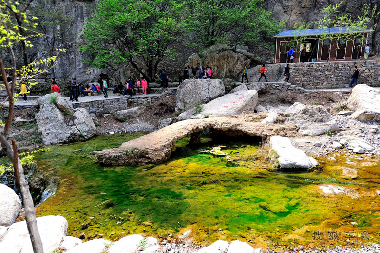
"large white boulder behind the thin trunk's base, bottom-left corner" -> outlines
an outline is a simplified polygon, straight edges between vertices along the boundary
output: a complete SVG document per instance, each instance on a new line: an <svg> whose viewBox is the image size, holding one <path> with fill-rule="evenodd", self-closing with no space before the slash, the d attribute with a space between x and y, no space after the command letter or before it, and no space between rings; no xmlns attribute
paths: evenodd
<svg viewBox="0 0 380 253"><path fill-rule="evenodd" d="M37 218L38 232L41 236L43 251L57 249L66 236L68 223L62 216L43 216ZM0 241L1 252L33 253L26 221L12 224Z"/></svg>

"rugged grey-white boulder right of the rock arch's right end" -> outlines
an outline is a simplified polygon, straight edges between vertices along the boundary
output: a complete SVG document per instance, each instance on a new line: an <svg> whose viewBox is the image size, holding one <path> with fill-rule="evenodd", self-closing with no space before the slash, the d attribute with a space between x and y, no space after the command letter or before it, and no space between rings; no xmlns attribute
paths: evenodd
<svg viewBox="0 0 380 253"><path fill-rule="evenodd" d="M339 130L338 124L321 105L309 106L296 102L285 114L291 115L285 123L297 125L302 135L318 136L327 131Z"/></svg>

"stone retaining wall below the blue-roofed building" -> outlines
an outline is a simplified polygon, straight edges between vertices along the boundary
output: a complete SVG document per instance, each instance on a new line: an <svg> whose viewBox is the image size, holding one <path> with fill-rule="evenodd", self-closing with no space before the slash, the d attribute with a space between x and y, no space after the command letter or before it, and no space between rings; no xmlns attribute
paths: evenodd
<svg viewBox="0 0 380 253"><path fill-rule="evenodd" d="M304 89L344 88L358 66L359 83L380 86L380 60L310 62L290 66L290 81Z"/></svg>

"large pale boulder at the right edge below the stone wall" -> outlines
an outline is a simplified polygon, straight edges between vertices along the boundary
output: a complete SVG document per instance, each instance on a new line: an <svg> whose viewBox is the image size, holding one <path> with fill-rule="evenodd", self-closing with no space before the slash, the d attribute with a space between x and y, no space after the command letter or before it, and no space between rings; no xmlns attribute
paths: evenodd
<svg viewBox="0 0 380 253"><path fill-rule="evenodd" d="M380 90L366 84L356 85L348 98L348 107L355 111L351 117L380 122Z"/></svg>

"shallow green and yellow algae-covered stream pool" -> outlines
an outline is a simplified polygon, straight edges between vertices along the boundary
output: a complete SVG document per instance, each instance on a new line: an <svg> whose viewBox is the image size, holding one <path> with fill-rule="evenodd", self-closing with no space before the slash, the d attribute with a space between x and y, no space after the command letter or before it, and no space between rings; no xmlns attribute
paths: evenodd
<svg viewBox="0 0 380 253"><path fill-rule="evenodd" d="M256 245L317 245L342 243L347 232L379 242L379 157L346 164L348 158L336 154L335 161L319 159L322 169L279 173L269 170L266 152L247 139L212 148L215 142L202 138L201 146L190 149L186 137L164 164L95 163L94 150L138 136L99 136L38 154L38 168L56 174L59 186L37 207L37 215L62 215L69 222L68 235L87 240L180 235L191 228L195 241L206 242L238 237ZM358 169L359 177L344 179L331 169L339 164ZM357 195L324 194L320 186L326 184ZM332 232L338 237L329 240Z"/></svg>

